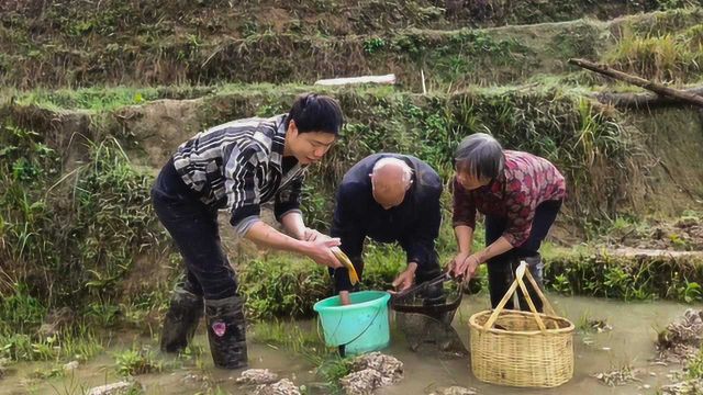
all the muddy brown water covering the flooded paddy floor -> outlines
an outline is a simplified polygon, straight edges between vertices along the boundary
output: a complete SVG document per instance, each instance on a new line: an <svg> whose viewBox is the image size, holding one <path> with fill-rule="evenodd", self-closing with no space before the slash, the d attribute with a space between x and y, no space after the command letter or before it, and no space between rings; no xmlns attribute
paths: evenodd
<svg viewBox="0 0 703 395"><path fill-rule="evenodd" d="M386 350L405 364L404 379L394 386L383 388L379 394L426 394L437 387L460 385L476 388L480 394L654 394L661 385L668 384L667 374L680 366L661 366L651 363L655 354L654 340L658 329L665 328L687 308L669 302L623 303L584 297L550 296L555 308L571 319L577 326L583 317L604 319L613 326L606 332L579 332L576 337L576 373L573 379L554 390L533 391L492 386L477 381L469 371L468 359L447 359L431 352L414 353L398 331L393 331L392 346ZM468 346L468 318L472 313L488 306L486 296L465 298L454 320L454 326ZM301 323L302 327L314 328L311 323ZM10 373L0 380L0 394L82 394L92 386L113 383L120 377L115 374L114 352L130 348L133 343L152 345L150 338L123 335L101 356L80 365L64 377L49 380L31 379L36 369L51 370L60 364L34 363L15 364ZM200 335L196 343L208 349L208 340ZM176 360L165 358L165 363ZM252 368L267 368L283 377L292 379L297 384L315 381L313 366L300 356L278 350L260 343L249 345ZM617 370L631 365L638 370L641 382L624 386L609 387L591 375L598 372ZM651 372L651 373L650 373ZM143 374L136 379L146 387L148 394L193 394L207 393L220 387L232 394L243 393L234 384L238 372L216 370L212 366L205 351L200 362L189 360L179 362L179 366L166 369L163 373ZM647 384L650 387L645 388Z"/></svg>

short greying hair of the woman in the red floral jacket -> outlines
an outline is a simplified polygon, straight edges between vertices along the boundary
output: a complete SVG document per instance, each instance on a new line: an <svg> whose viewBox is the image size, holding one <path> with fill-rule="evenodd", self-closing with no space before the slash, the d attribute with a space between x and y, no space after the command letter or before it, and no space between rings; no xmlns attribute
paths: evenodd
<svg viewBox="0 0 703 395"><path fill-rule="evenodd" d="M469 172L479 179L494 180L503 172L505 154L495 138L476 133L461 140L454 155L457 171Z"/></svg>

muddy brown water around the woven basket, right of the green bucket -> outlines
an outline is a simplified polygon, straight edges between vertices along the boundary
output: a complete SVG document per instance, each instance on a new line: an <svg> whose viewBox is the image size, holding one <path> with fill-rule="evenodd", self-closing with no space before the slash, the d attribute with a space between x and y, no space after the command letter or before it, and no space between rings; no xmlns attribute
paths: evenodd
<svg viewBox="0 0 703 395"><path fill-rule="evenodd" d="M554 307L577 327L582 317L605 319L613 330L605 332L578 332L576 336L576 371L573 379L549 391L499 387L479 382L469 370L467 360L446 360L432 354L406 351L395 342L391 353L405 364L405 379L380 394L428 393L436 387L460 385L473 387L479 394L647 394L669 384L670 370L679 366L661 366L650 361L655 356L654 341L657 331L683 314L687 306L669 302L623 303L587 297L561 297L550 295ZM471 314L486 309L484 296L465 298L454 327L468 346L468 320ZM639 383L609 387L591 375L618 370L624 365L641 370ZM652 372L656 375L651 375ZM644 385L650 386L649 390Z"/></svg>

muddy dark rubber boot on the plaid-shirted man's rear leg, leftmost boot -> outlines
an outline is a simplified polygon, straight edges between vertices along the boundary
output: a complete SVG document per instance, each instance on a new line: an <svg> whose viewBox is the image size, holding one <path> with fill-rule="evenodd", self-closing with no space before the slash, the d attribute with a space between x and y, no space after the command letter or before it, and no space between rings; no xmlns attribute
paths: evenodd
<svg viewBox="0 0 703 395"><path fill-rule="evenodd" d="M182 351L196 335L198 321L202 315L202 296L177 286L164 319L161 351Z"/></svg>

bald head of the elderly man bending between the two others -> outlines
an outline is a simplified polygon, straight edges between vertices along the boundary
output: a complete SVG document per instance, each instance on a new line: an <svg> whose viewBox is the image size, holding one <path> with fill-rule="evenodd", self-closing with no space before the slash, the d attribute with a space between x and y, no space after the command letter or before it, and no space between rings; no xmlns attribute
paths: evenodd
<svg viewBox="0 0 703 395"><path fill-rule="evenodd" d="M371 172L373 199L389 210L403 203L405 192L412 184L413 170L398 158L381 158Z"/></svg>

